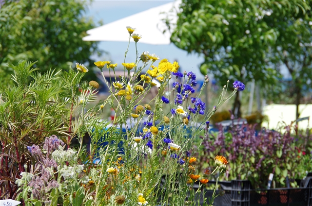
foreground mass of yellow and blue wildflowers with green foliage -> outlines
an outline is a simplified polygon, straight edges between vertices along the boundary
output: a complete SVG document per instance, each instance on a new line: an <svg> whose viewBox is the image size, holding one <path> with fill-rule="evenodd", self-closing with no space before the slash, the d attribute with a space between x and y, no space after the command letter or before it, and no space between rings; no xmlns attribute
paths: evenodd
<svg viewBox="0 0 312 206"><path fill-rule="evenodd" d="M229 87L228 81L218 103L206 108L200 96L208 76L196 92L195 73L147 51L139 55L144 36L127 31L136 59L127 59L127 49L123 63L94 63L109 88L103 101L97 100L99 84L82 80L90 72L83 64L44 74L32 68L35 63L11 65L17 86L0 89L1 176L7 182L1 198L26 206L198 205L195 197L213 175L214 192L204 205L214 204L228 160L217 154L212 171L197 170L194 141L203 141L199 135L207 135L210 117L244 84ZM123 76L116 75L118 65ZM115 112L111 121L100 118L106 107Z"/></svg>

